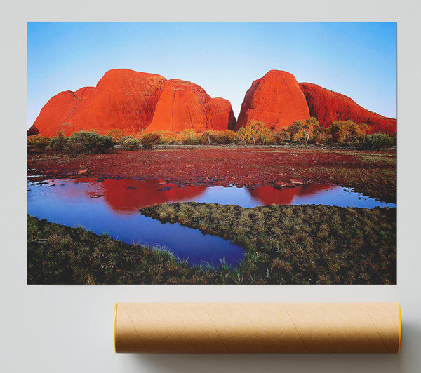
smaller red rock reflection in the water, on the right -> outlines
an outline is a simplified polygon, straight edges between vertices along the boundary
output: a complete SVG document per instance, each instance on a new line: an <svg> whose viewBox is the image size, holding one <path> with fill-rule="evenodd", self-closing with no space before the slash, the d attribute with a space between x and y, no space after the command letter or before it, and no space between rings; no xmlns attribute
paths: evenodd
<svg viewBox="0 0 421 373"><path fill-rule="evenodd" d="M260 186L254 190L249 190L249 192L253 198L257 198L263 205L290 205L295 196L310 196L330 188L331 186L323 184L308 184L284 189Z"/></svg>

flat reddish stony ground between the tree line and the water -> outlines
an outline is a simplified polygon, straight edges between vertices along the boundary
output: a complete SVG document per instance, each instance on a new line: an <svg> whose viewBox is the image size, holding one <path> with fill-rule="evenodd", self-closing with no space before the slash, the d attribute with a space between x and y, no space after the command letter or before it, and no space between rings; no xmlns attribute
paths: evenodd
<svg viewBox="0 0 421 373"><path fill-rule="evenodd" d="M299 180L338 184L396 202L396 151L298 147L189 147L114 150L70 158L46 151L28 155L36 179L86 176L96 179L163 179L178 186L273 186ZM34 181L35 179L32 179Z"/></svg>

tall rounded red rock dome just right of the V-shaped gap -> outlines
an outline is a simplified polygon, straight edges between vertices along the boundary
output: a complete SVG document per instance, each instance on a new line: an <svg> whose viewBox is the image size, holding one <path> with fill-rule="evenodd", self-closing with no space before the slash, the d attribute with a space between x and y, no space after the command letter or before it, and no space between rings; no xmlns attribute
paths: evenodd
<svg viewBox="0 0 421 373"><path fill-rule="evenodd" d="M278 130L309 117L305 96L293 74L271 70L248 89L235 129L254 119Z"/></svg>

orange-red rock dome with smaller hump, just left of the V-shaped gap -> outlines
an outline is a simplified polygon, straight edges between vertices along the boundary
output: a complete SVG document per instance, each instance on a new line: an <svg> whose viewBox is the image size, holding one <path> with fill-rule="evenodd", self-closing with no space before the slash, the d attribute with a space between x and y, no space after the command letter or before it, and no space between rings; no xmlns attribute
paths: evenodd
<svg viewBox="0 0 421 373"><path fill-rule="evenodd" d="M182 132L193 129L233 129L235 118L229 101L210 96L197 84L180 79L166 83L146 133L157 130Z"/></svg>

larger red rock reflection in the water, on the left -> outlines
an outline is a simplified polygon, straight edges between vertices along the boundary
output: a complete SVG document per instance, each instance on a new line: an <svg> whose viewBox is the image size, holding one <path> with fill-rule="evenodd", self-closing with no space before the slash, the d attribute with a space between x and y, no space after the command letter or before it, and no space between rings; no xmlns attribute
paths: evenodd
<svg viewBox="0 0 421 373"><path fill-rule="evenodd" d="M150 205L191 201L206 190L206 186L180 188L175 184L162 184L159 180L106 179L101 185L105 201L116 212L135 212Z"/></svg>

